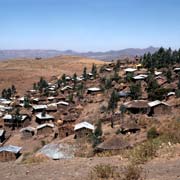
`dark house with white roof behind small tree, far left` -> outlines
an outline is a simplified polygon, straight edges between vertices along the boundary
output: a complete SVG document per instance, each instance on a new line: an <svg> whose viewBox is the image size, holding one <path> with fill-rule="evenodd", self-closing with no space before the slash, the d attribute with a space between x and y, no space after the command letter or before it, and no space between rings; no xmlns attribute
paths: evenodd
<svg viewBox="0 0 180 180"><path fill-rule="evenodd" d="M20 120L14 119L13 115L6 114L3 116L4 126L6 127L26 127L30 124L30 118L27 115L20 115Z"/></svg>

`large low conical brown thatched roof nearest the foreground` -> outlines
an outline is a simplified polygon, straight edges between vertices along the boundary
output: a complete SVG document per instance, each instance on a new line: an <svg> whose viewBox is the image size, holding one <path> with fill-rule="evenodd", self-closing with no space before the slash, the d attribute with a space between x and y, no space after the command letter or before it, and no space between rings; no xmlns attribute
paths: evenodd
<svg viewBox="0 0 180 180"><path fill-rule="evenodd" d="M97 150L122 150L130 147L130 144L126 142L122 136L114 135L111 138L105 140L103 143L99 144L96 148Z"/></svg>

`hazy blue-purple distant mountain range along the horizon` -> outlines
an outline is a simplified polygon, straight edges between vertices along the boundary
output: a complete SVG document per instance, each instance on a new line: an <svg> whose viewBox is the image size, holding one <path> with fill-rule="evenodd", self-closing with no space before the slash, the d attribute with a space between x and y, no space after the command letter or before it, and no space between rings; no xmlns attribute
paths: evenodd
<svg viewBox="0 0 180 180"><path fill-rule="evenodd" d="M17 58L50 58L59 55L70 56L83 56L88 58L95 58L104 61L110 61L112 59L141 56L144 53L154 53L158 48L148 47L145 49L140 48L128 48L119 51L107 51L107 52L75 52L72 50L58 51L58 50L0 50L0 60L17 59Z"/></svg>

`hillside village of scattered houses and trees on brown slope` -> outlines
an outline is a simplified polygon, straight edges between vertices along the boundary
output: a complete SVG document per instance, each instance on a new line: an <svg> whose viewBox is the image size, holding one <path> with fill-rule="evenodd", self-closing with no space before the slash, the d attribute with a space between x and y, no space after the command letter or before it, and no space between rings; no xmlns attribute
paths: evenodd
<svg viewBox="0 0 180 180"><path fill-rule="evenodd" d="M161 48L133 60L92 64L90 71L84 67L81 74L53 76L49 82L41 77L24 96L16 84L2 90L0 161L113 155L158 137L179 143L175 53ZM164 59L171 63L163 64Z"/></svg>

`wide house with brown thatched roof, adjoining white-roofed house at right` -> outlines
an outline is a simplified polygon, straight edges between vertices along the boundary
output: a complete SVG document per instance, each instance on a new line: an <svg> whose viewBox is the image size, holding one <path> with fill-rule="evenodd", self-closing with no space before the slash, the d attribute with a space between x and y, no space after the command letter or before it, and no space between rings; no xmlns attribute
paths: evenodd
<svg viewBox="0 0 180 180"><path fill-rule="evenodd" d="M148 112L148 101L146 100L133 100L129 102L125 102L124 107L133 114L146 114Z"/></svg>

